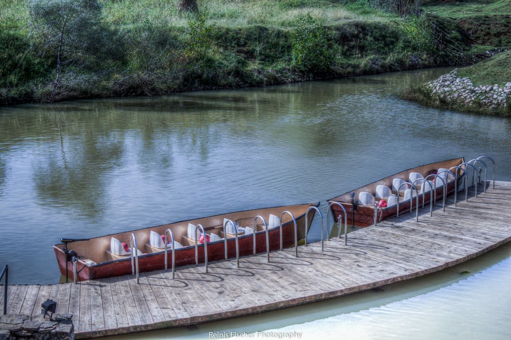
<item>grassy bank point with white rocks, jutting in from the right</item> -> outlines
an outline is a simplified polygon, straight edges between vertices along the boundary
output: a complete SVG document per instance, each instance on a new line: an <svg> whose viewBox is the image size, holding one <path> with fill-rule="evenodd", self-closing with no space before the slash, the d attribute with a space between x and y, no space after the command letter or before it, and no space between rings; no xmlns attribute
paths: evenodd
<svg viewBox="0 0 511 340"><path fill-rule="evenodd" d="M442 109L511 116L511 52L409 87L403 98Z"/></svg>

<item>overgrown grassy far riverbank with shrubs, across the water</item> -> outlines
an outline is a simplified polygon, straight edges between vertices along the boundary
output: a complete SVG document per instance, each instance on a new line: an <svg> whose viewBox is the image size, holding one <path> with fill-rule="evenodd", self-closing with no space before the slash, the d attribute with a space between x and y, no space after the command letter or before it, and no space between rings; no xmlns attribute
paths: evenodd
<svg viewBox="0 0 511 340"><path fill-rule="evenodd" d="M403 19L364 0L101 0L93 39L57 40L25 0L0 9L0 103L159 95L470 63L495 40L471 40L457 18L425 7ZM453 5L454 6L454 5ZM446 14L447 13L447 14ZM42 16L43 23L48 22ZM83 32L82 32L83 33ZM507 40L505 40L507 41ZM483 45L481 47L480 45Z"/></svg>

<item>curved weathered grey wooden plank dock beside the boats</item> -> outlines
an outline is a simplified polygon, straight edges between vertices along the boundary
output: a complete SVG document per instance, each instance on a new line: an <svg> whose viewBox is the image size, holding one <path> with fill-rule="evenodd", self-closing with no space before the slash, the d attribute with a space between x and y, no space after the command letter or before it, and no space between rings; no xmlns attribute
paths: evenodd
<svg viewBox="0 0 511 340"><path fill-rule="evenodd" d="M482 188L481 188L482 189ZM335 298L442 270L511 240L511 183L497 182L446 211L437 202L350 233L294 249L204 267L55 285L9 286L8 313L37 314L46 299L73 313L77 338L190 325ZM0 290L3 294L3 289ZM0 305L3 296L0 296Z"/></svg>

